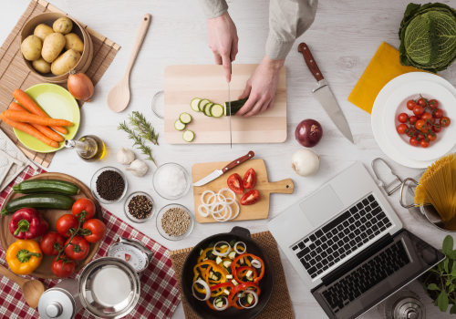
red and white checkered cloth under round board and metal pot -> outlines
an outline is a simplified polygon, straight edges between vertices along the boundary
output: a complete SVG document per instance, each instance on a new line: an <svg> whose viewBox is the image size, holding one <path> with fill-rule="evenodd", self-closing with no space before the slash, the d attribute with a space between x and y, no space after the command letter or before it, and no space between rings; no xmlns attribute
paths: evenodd
<svg viewBox="0 0 456 319"><path fill-rule="evenodd" d="M31 167L24 170L13 182L5 188L0 194L0 205L3 205L6 196L12 190L13 185L26 180L29 177L46 172L45 170L35 171ZM111 214L109 211L102 209L103 221L106 223L108 232L101 242L98 252L94 259L102 257L110 244L116 242L119 236L135 239L142 242L150 251L154 253L154 257L150 262L148 269L141 278L141 294L140 301L135 309L125 318L171 318L171 315L181 302L176 274L172 269L170 251L161 246L161 244L152 241L143 233L138 232L126 222ZM0 246L0 263L8 267L5 260L5 251ZM78 278L79 273L73 274L70 278ZM32 276L26 276L32 279ZM58 280L41 280L48 288L51 288ZM0 319L30 319L39 318L36 309L30 308L22 296L20 287L0 275ZM80 311L77 316L80 318L94 318L85 310Z"/></svg>

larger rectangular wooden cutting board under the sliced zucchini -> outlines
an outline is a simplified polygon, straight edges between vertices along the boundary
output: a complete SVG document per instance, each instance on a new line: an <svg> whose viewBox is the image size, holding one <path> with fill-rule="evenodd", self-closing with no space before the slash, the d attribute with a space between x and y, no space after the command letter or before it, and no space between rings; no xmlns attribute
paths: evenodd
<svg viewBox="0 0 456 319"><path fill-rule="evenodd" d="M245 83L258 65L233 63L231 100L244 92ZM181 113L192 116L185 129L195 134L192 143L230 143L230 118L210 118L190 108L193 98L208 98L223 106L228 101L228 83L222 66L169 66L165 68L165 140L169 144L187 144L182 131L174 129L174 122ZM233 143L282 143L286 139L286 75L280 72L274 108L250 117L232 118Z"/></svg>

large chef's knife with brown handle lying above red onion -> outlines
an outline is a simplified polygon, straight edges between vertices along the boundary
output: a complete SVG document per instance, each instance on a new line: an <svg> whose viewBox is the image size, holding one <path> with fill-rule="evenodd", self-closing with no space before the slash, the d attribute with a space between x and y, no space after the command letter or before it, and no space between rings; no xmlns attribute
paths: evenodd
<svg viewBox="0 0 456 319"><path fill-rule="evenodd" d="M297 47L297 50L303 54L307 67L318 81L318 87L312 90L314 96L318 102L320 102L321 106L325 108L327 115L334 124L336 124L337 129L339 129L349 141L355 144L347 119L344 117L344 113L342 113L342 110L338 106L336 98L334 98L331 90L327 86L325 77L323 77L320 69L316 65L316 61L314 57L312 57L312 53L310 53L308 46L305 43L301 43Z"/></svg>

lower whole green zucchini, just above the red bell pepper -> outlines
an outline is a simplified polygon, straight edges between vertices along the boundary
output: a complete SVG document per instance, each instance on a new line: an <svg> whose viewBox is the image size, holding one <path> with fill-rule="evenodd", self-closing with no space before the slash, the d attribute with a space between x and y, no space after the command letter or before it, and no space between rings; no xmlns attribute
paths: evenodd
<svg viewBox="0 0 456 319"><path fill-rule="evenodd" d="M26 207L67 211L71 209L74 202L66 195L32 194L9 201L0 213L5 216Z"/></svg>

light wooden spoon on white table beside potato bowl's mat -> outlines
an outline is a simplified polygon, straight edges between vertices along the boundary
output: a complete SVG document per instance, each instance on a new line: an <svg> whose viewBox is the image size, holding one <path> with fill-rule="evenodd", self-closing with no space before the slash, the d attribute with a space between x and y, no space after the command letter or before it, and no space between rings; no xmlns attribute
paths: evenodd
<svg viewBox="0 0 456 319"><path fill-rule="evenodd" d="M151 18L152 17L149 14L145 14L142 17L140 29L138 30L133 49L131 50L130 60L127 66L127 70L125 71L125 75L115 87L112 87L111 91L109 92L107 101L108 108L113 112L121 112L129 106L131 67L133 67L136 57L138 57L138 52L140 52L140 47L142 45L142 41L144 41L144 36L146 36Z"/></svg>

